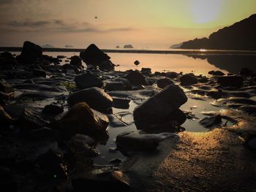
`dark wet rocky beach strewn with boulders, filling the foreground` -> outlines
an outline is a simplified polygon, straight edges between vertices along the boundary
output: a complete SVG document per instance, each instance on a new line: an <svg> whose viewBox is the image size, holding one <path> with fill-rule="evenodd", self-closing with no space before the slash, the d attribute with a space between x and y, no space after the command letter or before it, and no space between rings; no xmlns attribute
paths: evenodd
<svg viewBox="0 0 256 192"><path fill-rule="evenodd" d="M116 67L96 45L71 58L43 55L31 42L20 55L1 53L1 190L255 188L255 72L196 76ZM183 110L187 101L219 110L198 118L197 106ZM207 132L186 131L186 121ZM96 164L100 146L127 158ZM219 182L229 174L236 177Z"/></svg>

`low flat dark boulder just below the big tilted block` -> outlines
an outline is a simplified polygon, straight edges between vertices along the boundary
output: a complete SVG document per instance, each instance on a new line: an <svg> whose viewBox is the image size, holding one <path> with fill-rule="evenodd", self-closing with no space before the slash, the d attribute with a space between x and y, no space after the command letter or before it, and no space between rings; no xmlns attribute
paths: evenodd
<svg viewBox="0 0 256 192"><path fill-rule="evenodd" d="M154 151L157 150L159 142L176 137L173 133L147 134L145 131L125 131L116 137L118 150L123 153L130 151Z"/></svg>

